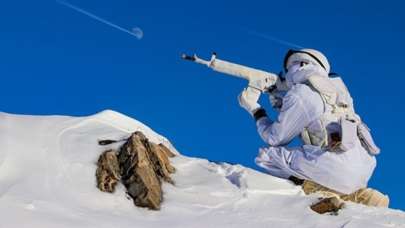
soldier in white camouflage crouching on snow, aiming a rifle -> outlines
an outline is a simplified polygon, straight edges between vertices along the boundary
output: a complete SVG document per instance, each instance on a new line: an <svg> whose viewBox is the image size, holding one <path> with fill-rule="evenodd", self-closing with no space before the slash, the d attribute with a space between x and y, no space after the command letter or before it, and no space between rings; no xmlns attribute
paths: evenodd
<svg viewBox="0 0 405 228"><path fill-rule="evenodd" d="M273 107L279 108L274 120L258 104L259 90L245 89L239 96L269 145L259 150L256 163L271 175L302 179L307 194L388 207L387 196L367 188L379 149L355 113L343 81L329 77L327 58L313 49L290 50L284 70L286 93L270 95ZM303 145L287 147L296 136Z"/></svg>

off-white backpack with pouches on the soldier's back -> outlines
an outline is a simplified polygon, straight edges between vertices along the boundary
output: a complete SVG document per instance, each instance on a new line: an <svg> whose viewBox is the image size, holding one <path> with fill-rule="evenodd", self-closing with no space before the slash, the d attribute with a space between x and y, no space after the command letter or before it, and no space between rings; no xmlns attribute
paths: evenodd
<svg viewBox="0 0 405 228"><path fill-rule="evenodd" d="M301 137L304 142L311 142L311 137L322 138L320 145L332 148L335 151L347 151L352 149L357 141L360 140L362 146L371 154L377 155L380 149L374 143L370 129L356 114L353 105L353 99L343 80L337 74L330 74L330 77L310 76L306 84L317 92L324 102L325 111L321 117L323 126L322 137L313 136L308 132L303 132ZM334 77L331 77L334 76ZM338 123L340 126L340 135L338 137L329 135L327 126ZM334 145L330 145L331 142ZM334 148L333 148L334 147Z"/></svg>

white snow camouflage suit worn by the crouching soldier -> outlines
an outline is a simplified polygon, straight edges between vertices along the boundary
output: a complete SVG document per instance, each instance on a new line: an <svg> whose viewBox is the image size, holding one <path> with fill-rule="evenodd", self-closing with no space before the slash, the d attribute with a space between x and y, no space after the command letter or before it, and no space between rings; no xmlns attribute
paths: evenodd
<svg viewBox="0 0 405 228"><path fill-rule="evenodd" d="M314 73L328 77L326 71L316 65L303 68L286 75L289 90L277 120L262 117L256 123L260 136L270 145L260 149L255 159L257 165L271 175L312 180L344 194L367 187L376 159L362 147L359 139L354 148L343 153L313 145L286 147L304 128L318 121L325 110L321 96L303 83Z"/></svg>

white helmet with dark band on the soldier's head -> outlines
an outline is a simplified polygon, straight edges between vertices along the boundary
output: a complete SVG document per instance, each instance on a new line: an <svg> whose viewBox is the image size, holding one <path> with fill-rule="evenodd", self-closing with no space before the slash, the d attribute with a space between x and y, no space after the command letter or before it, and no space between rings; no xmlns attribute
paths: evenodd
<svg viewBox="0 0 405 228"><path fill-rule="evenodd" d="M284 70L287 71L295 62L311 62L323 67L328 74L330 72L326 56L314 49L289 50L284 58Z"/></svg>

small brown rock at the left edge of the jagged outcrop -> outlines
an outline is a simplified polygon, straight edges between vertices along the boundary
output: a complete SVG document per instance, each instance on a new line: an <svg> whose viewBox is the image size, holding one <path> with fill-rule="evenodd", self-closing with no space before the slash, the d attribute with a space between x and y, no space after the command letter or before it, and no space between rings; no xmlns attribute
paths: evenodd
<svg viewBox="0 0 405 228"><path fill-rule="evenodd" d="M116 151L108 150L101 154L97 162L96 178L97 187L101 191L115 191L115 186L121 179Z"/></svg>

